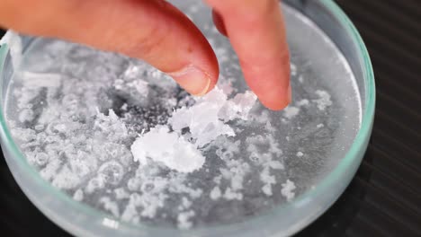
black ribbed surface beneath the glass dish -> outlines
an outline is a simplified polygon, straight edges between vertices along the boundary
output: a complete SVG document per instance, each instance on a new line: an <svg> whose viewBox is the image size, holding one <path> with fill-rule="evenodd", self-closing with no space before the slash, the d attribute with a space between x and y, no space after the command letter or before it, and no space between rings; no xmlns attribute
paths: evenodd
<svg viewBox="0 0 421 237"><path fill-rule="evenodd" d="M376 117L354 180L326 214L297 236L421 236L421 1L336 2L372 57ZM0 185L0 235L68 236L31 205L4 159Z"/></svg>

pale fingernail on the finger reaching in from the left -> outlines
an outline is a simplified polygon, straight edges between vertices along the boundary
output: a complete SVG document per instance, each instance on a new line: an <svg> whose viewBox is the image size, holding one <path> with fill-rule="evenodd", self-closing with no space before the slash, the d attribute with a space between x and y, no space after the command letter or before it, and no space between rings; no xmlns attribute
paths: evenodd
<svg viewBox="0 0 421 237"><path fill-rule="evenodd" d="M184 90L193 95L204 95L209 90L210 75L195 66L186 66L182 70L169 73Z"/></svg>

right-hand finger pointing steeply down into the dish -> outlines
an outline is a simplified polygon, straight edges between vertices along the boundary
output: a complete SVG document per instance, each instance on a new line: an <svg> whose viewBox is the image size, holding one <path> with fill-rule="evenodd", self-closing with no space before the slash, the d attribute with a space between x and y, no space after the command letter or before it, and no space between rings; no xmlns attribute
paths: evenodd
<svg viewBox="0 0 421 237"><path fill-rule="evenodd" d="M291 101L290 57L279 1L207 1L223 19L247 84L266 107L286 107Z"/></svg>

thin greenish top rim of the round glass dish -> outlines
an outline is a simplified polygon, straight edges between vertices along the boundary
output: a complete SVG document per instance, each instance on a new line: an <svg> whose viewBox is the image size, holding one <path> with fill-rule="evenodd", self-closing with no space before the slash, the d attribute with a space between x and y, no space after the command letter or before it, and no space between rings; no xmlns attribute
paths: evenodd
<svg viewBox="0 0 421 237"><path fill-rule="evenodd" d="M375 83L374 83L374 75L372 71L372 63L371 59L369 57L367 48L365 47L363 43L363 39L361 38L359 32L354 27L354 24L350 21L350 19L346 16L346 14L340 9L340 7L333 1L333 0L319 0L321 4L324 4L326 6L327 10L332 13L337 20L341 23L341 25L345 28L345 31L347 31L351 37L351 40L354 41L356 46L359 49L359 57L363 61L363 82L364 82L364 88L365 88L365 106L363 107L363 120L361 123L361 127L357 133L357 135L354 138L354 142L351 145L348 152L345 154L345 157L336 165L333 171L327 174L325 178L323 178L319 183L318 186L315 189L309 189L299 197L295 198L291 203L282 204L280 206L275 206L269 211L265 211L262 215L256 215L254 217L248 218L243 222L235 223L235 224L228 224L228 225L210 225L206 227L197 227L193 228L190 231L180 231L175 228L166 228L166 227L154 227L146 224L130 224L130 223L124 223L119 220L115 220L112 215L108 215L106 213L103 213L100 210L94 209L94 207L87 206L84 203L77 202L76 200L73 200L73 198L69 197L64 192L54 188L50 185L49 182L46 180L43 180L39 172L36 171L31 164L29 164L24 157L24 155L21 153L18 145L16 145L13 142L13 137L10 133L9 128L6 124L6 119L4 117L4 108L3 108L3 101L1 101L0 104L0 136L2 139L2 144L5 145L3 149L7 149L11 152L13 159L15 162L17 162L17 165L22 168L22 171L24 171L27 175L29 175L33 181L35 181L38 185L40 185L41 189L46 190L49 194L51 194L55 198L59 198L61 201L64 202L67 206L70 208L76 208L81 214L93 217L98 223L103 223L103 219L109 219L109 220L115 220L119 223L119 230L127 231L128 233L135 232L135 231L146 231L148 233L148 230L152 232L167 232L171 231L171 233L176 234L175 232L179 232L179 234L184 233L193 233L193 234L201 234L201 233L208 233L212 231L227 231L230 232L233 230L238 229L241 225L244 224L252 224L259 226L260 223L265 222L265 216L271 215L271 213L280 213L284 211L288 211L288 209L292 209L293 206L296 206L298 203L307 200L308 198L312 197L318 197L320 195L323 195L323 193L327 192L327 190L332 187L338 180L339 177L342 176L342 173L353 163L359 163L361 162L361 157L363 152L365 151L365 146L367 145L368 139L371 135L372 131L372 122L374 118L374 108L375 108ZM7 44L0 45L0 74L3 74L4 72L4 59L8 53L9 47ZM3 86L3 83L1 83L0 87ZM3 88L2 88L3 89ZM342 193L342 191L341 191ZM337 198L337 197L336 197ZM332 203L335 200L332 201ZM328 206L327 206L328 207ZM326 211L327 207L321 211L319 211L318 215ZM40 208L41 209L41 208ZM317 216L318 216L317 215ZM315 216L312 219L317 218ZM53 220L52 221L57 221ZM309 220L311 222L312 220ZM59 222L58 222L59 224ZM61 225L62 226L62 225ZM62 226L64 227L64 226ZM103 227L106 227L106 225L103 225ZM294 232L299 231L304 226L301 226L299 228L296 228L293 230ZM78 233L85 233L82 230L67 230L70 232L78 232Z"/></svg>

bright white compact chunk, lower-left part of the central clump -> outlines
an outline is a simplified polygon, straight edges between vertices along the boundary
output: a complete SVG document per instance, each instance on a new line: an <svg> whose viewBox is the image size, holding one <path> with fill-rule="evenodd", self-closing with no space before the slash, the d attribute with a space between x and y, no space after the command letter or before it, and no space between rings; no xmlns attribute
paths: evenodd
<svg viewBox="0 0 421 237"><path fill-rule="evenodd" d="M202 153L187 142L183 136L170 132L166 126L152 128L148 133L139 136L131 145L135 161L141 165L148 164L150 158L162 162L169 169L180 172L192 172L202 168L205 161Z"/></svg>

